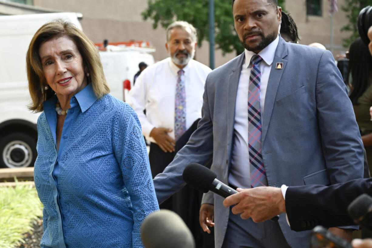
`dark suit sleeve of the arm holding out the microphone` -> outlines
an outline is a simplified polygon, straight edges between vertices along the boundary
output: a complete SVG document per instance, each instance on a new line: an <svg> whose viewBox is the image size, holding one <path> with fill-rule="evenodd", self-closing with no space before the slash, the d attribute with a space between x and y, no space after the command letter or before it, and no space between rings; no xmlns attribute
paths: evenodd
<svg viewBox="0 0 372 248"><path fill-rule="evenodd" d="M347 206L360 194L372 195L372 178L355 179L331 186L303 185L288 187L285 207L295 231L324 227L353 225Z"/></svg>

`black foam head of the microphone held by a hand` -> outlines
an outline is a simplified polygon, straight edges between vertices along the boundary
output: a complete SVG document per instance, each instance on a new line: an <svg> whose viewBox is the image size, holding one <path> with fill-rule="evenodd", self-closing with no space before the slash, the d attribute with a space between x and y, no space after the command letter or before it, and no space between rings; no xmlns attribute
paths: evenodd
<svg viewBox="0 0 372 248"><path fill-rule="evenodd" d="M217 175L213 171L198 163L187 165L182 174L182 178L187 184L203 193L209 191L216 177Z"/></svg>

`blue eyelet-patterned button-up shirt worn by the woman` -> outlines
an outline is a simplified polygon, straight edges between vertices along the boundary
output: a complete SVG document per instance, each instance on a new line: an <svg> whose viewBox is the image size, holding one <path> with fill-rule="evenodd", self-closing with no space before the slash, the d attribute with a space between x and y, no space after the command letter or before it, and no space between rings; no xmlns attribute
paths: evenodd
<svg viewBox="0 0 372 248"><path fill-rule="evenodd" d="M38 119L41 248L143 247L141 223L158 202L137 115L111 95L97 100L88 85L71 98L57 151L56 101Z"/></svg>

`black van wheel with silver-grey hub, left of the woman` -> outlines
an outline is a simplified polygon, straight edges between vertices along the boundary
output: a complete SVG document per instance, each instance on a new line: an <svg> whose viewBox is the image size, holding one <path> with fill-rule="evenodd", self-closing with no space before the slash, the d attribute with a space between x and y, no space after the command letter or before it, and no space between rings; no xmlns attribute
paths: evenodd
<svg viewBox="0 0 372 248"><path fill-rule="evenodd" d="M35 162L36 141L25 133L11 133L0 140L0 166L21 168L33 166Z"/></svg>

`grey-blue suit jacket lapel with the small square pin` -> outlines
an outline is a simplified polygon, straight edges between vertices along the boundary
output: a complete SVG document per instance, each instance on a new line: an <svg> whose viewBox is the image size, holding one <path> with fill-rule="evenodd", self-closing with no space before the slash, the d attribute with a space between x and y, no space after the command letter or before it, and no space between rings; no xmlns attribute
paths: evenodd
<svg viewBox="0 0 372 248"><path fill-rule="evenodd" d="M269 127L271 114L273 112L274 104L275 104L275 98L276 98L276 92L278 91L278 86L280 79L282 78L283 71L286 67L286 62L284 58L287 56L287 44L282 39L279 38L278 47L275 51L275 56L273 60L273 64L271 65L271 71L269 76L269 81L267 83L267 89L266 89L266 96L265 96L265 108L263 113L263 126L262 126L262 144L265 141L267 128ZM276 63L283 63L282 69L276 69Z"/></svg>

